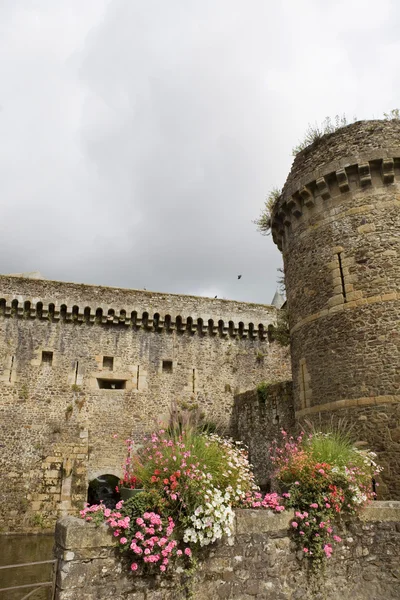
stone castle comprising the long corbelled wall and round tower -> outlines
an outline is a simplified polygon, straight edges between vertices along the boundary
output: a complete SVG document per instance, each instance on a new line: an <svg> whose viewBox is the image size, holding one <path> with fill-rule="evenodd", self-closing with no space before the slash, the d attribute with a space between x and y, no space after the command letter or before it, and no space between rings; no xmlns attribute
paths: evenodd
<svg viewBox="0 0 400 600"><path fill-rule="evenodd" d="M176 399L227 425L236 413L255 444L293 410L316 426L344 418L384 466L380 497L400 499L399 209L399 121L354 123L296 156L271 215L293 395L270 386L254 410L242 392L291 377L276 307L0 277L6 527L74 514L91 480L121 474L121 440Z"/></svg>

